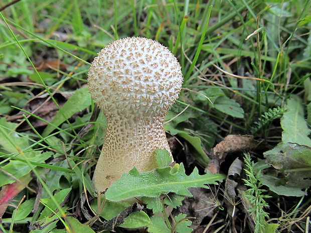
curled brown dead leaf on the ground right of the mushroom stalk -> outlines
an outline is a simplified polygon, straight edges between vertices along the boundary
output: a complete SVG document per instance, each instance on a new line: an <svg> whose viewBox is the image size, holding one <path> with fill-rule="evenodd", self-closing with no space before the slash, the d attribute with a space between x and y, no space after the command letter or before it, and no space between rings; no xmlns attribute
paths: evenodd
<svg viewBox="0 0 311 233"><path fill-rule="evenodd" d="M215 174L219 172L220 165L227 154L233 152L247 152L253 150L259 145L259 142L254 140L251 135L233 135L230 134L218 143L211 151L211 161L207 165L206 170Z"/></svg>

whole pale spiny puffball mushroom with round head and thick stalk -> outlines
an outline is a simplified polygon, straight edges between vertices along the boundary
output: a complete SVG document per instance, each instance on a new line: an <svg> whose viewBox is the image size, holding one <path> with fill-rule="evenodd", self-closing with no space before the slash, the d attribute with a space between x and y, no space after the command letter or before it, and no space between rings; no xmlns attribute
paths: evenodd
<svg viewBox="0 0 311 233"><path fill-rule="evenodd" d="M100 51L88 73L91 96L107 119L93 176L97 191L134 166L140 172L157 168L156 148L167 149L172 157L164 118L182 83L177 59L156 41L125 38Z"/></svg>

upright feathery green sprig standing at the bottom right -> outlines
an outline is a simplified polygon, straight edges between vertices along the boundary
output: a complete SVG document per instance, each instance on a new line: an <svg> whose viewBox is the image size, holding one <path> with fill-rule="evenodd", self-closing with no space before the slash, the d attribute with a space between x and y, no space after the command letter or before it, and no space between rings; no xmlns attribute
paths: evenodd
<svg viewBox="0 0 311 233"><path fill-rule="evenodd" d="M249 154L244 154L245 173L247 178L243 179L245 185L249 187L247 189L246 197L249 199L251 207L248 209L255 222L254 233L264 232L266 226L265 218L268 217L268 213L264 211L264 208L269 207L264 198L269 198L269 195L264 195L264 189L261 189L262 183L258 180L260 170L256 171L255 163L251 161Z"/></svg>

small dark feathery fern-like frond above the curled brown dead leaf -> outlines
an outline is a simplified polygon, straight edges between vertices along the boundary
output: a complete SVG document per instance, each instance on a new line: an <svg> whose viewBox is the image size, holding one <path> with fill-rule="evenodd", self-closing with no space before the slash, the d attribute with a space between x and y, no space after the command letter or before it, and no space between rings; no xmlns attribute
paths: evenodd
<svg viewBox="0 0 311 233"><path fill-rule="evenodd" d="M265 129L265 127L273 120L280 118L284 112L287 110L284 107L270 108L267 112L261 115L258 118L258 121L255 122L256 126L251 128L251 134L257 133L261 129Z"/></svg>

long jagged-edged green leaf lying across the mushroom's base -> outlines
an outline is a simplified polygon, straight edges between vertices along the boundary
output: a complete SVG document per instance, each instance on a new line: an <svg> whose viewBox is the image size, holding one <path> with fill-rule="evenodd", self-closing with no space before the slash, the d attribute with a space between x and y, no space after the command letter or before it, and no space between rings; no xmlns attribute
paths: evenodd
<svg viewBox="0 0 311 233"><path fill-rule="evenodd" d="M105 197L110 201L121 201L135 196L158 197L169 192L192 196L188 187L208 188L205 184L216 184L225 178L221 174L199 175L197 168L188 176L183 164L176 173L171 174L171 170L172 167L165 167L139 173L134 167L108 188Z"/></svg>

